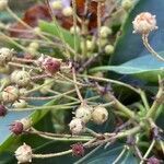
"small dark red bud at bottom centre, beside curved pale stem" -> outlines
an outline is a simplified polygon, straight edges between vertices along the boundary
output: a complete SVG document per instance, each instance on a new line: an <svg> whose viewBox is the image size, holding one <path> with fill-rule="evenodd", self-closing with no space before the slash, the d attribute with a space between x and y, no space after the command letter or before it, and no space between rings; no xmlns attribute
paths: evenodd
<svg viewBox="0 0 164 164"><path fill-rule="evenodd" d="M84 155L84 147L82 143L75 143L71 145L72 148L72 155L74 156L83 156Z"/></svg>

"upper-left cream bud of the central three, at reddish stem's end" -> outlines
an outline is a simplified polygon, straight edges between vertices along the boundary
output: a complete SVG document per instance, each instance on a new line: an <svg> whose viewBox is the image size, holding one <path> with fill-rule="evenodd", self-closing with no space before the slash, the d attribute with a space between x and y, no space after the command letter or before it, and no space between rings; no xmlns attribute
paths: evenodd
<svg viewBox="0 0 164 164"><path fill-rule="evenodd" d="M91 119L91 113L93 108L86 104L82 104L77 110L75 110L75 117L80 118L83 122L87 122Z"/></svg>

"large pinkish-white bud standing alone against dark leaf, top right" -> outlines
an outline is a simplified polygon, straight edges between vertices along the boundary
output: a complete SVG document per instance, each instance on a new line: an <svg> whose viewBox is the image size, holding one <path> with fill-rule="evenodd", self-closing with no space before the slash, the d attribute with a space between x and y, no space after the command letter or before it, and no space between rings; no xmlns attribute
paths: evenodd
<svg viewBox="0 0 164 164"><path fill-rule="evenodd" d="M155 15L149 12L142 12L136 16L133 24L133 33L149 34L157 28Z"/></svg>

